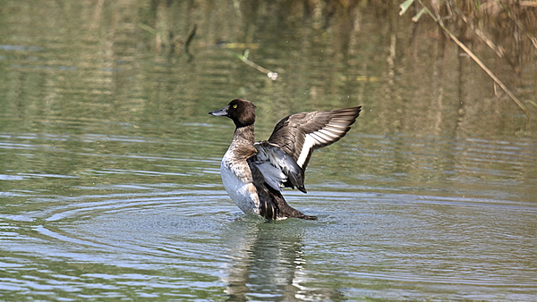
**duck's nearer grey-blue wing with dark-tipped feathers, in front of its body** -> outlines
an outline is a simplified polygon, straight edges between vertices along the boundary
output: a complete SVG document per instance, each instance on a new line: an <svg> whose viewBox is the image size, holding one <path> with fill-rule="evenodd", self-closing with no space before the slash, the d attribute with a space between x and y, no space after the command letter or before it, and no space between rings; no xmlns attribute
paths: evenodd
<svg viewBox="0 0 537 302"><path fill-rule="evenodd" d="M248 158L248 164L256 165L268 186L277 191L287 186L306 192L303 171L292 156L267 141L257 142L253 147L258 153Z"/></svg>

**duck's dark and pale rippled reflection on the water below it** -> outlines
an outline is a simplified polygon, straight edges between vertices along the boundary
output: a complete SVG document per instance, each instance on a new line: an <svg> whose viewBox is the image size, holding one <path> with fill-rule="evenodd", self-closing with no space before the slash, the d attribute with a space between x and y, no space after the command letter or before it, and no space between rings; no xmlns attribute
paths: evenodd
<svg viewBox="0 0 537 302"><path fill-rule="evenodd" d="M341 297L329 286L328 289L306 287L310 278L304 268L302 230L287 222L231 222L224 235L230 257L223 277L228 300Z"/></svg>

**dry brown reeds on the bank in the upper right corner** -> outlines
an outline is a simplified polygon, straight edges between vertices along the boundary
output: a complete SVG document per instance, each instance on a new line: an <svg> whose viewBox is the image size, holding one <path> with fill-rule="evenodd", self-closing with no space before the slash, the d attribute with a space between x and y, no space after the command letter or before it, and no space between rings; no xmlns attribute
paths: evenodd
<svg viewBox="0 0 537 302"><path fill-rule="evenodd" d="M524 63L537 51L537 1L427 0L442 22L467 43L484 43L511 66L520 80ZM418 2L413 3L419 13Z"/></svg>

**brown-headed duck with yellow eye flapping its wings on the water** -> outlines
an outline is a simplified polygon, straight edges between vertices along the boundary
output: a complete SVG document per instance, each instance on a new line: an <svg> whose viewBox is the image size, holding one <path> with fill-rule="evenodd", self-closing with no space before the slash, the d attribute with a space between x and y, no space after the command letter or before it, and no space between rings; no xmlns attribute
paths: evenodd
<svg viewBox="0 0 537 302"><path fill-rule="evenodd" d="M268 140L255 141L256 106L234 99L209 112L234 122L234 136L222 158L220 175L227 194L244 214L265 220L317 220L289 206L282 189L304 188L304 172L315 149L331 145L351 129L362 106L332 111L295 113L277 122Z"/></svg>

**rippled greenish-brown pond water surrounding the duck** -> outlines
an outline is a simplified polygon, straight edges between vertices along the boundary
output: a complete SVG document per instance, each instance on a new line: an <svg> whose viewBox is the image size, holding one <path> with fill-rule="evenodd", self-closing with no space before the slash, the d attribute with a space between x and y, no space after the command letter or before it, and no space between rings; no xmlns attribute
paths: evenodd
<svg viewBox="0 0 537 302"><path fill-rule="evenodd" d="M397 18L390 63L394 27L371 8L349 23L277 4L3 5L0 299L537 297L537 128L435 30ZM183 41L196 23L191 55L141 23ZM507 86L537 116L534 70ZM258 106L259 139L289 113L363 105L314 153L309 193L285 191L318 221L227 197L233 125L208 112L235 97Z"/></svg>

